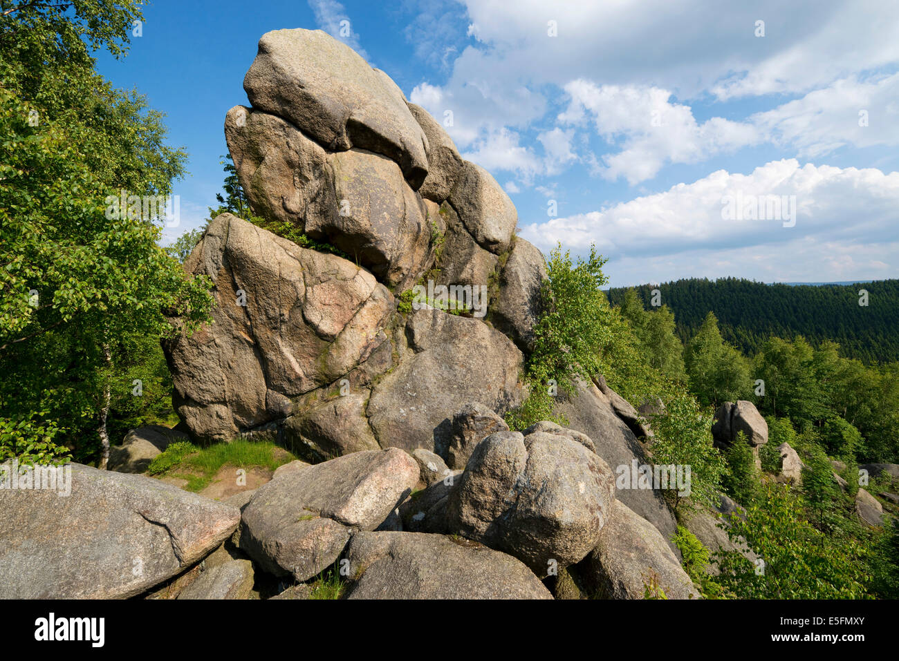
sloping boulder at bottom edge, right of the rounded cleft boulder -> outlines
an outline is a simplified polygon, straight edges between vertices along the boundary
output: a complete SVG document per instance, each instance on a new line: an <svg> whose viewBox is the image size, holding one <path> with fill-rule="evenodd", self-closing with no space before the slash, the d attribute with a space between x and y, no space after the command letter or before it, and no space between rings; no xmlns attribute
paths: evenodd
<svg viewBox="0 0 899 661"><path fill-rule="evenodd" d="M605 599L643 599L647 588L649 595L660 588L668 599L700 597L659 531L619 500L578 573Z"/></svg>

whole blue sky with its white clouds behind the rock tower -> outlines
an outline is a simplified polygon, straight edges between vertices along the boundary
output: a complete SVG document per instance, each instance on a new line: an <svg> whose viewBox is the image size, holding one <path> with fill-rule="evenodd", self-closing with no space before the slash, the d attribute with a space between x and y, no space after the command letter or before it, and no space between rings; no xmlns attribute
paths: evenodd
<svg viewBox="0 0 899 661"><path fill-rule="evenodd" d="M263 33L339 37L346 20L341 39L410 101L451 110L522 236L594 243L613 286L899 277L899 4L784 4L157 0L128 57L98 68L167 113L190 154L169 238L215 202L225 114L247 103ZM767 216L727 216L734 198Z"/></svg>

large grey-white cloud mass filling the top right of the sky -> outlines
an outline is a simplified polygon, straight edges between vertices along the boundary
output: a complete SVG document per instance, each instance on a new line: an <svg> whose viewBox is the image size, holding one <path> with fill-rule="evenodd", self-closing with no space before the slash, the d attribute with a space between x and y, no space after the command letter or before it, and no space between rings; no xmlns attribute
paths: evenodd
<svg viewBox="0 0 899 661"><path fill-rule="evenodd" d="M412 93L413 101L435 116L453 111L455 123L448 132L463 149L476 151L471 145L490 142L503 128L523 134L554 106L554 88L564 88L572 96L581 93L583 99L574 100L559 116L563 124L579 125L590 108L577 101L590 101L589 86L597 96L593 100L597 128L609 139L624 141L605 159L596 160L592 170L632 184L653 178L667 163L700 163L756 145L764 131L783 145L796 145L797 155L811 157L846 143L895 144L884 142L883 132L878 135L875 130L853 136L853 129L843 126L836 114L850 97L841 96L839 89L825 93L822 88L841 78L865 80L878 67L899 63L899 4L879 0L797 0L788 5L760 0L726 8L717 0L676 4L573 0L555 5L541 0L465 0L463 4L469 45L455 60L445 84L423 83ZM757 20L765 22L761 38L754 34ZM556 22L556 37L547 34L548 21ZM856 85L859 96L866 91L863 85ZM890 97L895 98L895 90L888 87L881 83L868 91L869 110L878 111L884 131L895 132L899 122L888 118L895 109ZM698 121L684 102L770 93L807 96L793 106L784 103L769 117L760 116L759 124L724 117ZM672 102L672 95L680 102ZM596 103L602 104L600 114ZM650 124L654 110L663 115L661 127ZM822 118L832 119L830 125L822 127L815 121ZM840 129L829 142L826 136L834 127ZM581 158L589 165L596 157L583 152ZM552 163L544 167L557 171Z"/></svg>

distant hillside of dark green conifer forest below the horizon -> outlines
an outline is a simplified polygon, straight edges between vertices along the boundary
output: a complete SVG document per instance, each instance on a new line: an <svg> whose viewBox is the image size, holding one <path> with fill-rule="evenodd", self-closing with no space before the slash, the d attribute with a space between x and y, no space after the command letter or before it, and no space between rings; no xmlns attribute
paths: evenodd
<svg viewBox="0 0 899 661"><path fill-rule="evenodd" d="M831 339L843 356L866 363L899 359L899 280L857 285L766 285L742 278L690 278L660 286L634 287L647 306L659 289L661 304L677 320L676 332L686 342L706 314L717 316L725 340L754 354L770 336L802 335L813 344ZM868 292L859 304L859 290ZM613 305L624 300L625 288L609 290ZM865 303L861 300L861 303Z"/></svg>

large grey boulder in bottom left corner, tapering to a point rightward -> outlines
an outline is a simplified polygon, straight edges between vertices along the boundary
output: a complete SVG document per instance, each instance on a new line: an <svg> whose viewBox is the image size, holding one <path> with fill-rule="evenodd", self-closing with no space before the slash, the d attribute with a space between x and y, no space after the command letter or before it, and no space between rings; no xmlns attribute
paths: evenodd
<svg viewBox="0 0 899 661"><path fill-rule="evenodd" d="M240 510L143 475L78 463L59 489L0 489L0 598L120 599L224 542ZM66 489L66 490L68 490Z"/></svg>

